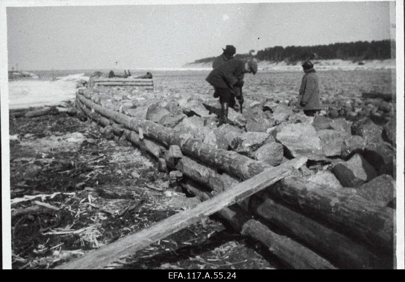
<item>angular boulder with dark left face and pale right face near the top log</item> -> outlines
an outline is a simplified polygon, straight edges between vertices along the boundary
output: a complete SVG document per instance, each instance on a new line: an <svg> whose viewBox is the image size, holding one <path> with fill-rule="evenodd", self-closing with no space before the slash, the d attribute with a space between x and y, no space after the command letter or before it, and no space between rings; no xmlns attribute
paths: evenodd
<svg viewBox="0 0 405 282"><path fill-rule="evenodd" d="M358 187L377 176L374 167L359 154L337 163L332 172L344 187Z"/></svg>

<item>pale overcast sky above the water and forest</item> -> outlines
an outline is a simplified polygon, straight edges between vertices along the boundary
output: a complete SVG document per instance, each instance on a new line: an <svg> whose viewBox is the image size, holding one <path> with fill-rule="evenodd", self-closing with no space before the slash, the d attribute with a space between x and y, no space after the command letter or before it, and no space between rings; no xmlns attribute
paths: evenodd
<svg viewBox="0 0 405 282"><path fill-rule="evenodd" d="M181 67L275 45L390 38L388 2L8 7L9 69Z"/></svg>

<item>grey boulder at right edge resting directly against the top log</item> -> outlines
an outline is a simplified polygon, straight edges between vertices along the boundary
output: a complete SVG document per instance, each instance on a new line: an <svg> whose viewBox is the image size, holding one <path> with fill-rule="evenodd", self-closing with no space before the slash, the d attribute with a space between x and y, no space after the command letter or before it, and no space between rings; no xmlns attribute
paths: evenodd
<svg viewBox="0 0 405 282"><path fill-rule="evenodd" d="M386 206L395 198L395 186L391 175L382 174L358 187L357 194L372 202L382 202L382 206Z"/></svg>

